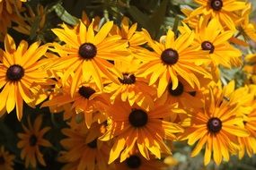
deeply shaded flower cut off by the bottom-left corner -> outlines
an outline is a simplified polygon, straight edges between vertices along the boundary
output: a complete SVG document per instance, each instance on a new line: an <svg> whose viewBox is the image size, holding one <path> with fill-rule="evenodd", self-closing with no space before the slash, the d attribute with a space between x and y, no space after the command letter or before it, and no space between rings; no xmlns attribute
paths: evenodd
<svg viewBox="0 0 256 170"><path fill-rule="evenodd" d="M3 170L13 170L13 160L15 156L10 154L4 149L4 146L0 148L0 169Z"/></svg>

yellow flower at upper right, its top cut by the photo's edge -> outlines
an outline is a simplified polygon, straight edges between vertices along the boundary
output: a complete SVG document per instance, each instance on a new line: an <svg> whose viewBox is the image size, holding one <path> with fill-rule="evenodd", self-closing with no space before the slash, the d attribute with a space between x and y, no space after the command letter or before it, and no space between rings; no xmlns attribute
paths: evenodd
<svg viewBox="0 0 256 170"><path fill-rule="evenodd" d="M200 4L199 8L190 13L190 16L186 20L201 15L204 18L215 18L225 28L229 30L235 30L235 22L240 19L239 14L244 8L246 8L245 1L239 0L194 0L197 4Z"/></svg>

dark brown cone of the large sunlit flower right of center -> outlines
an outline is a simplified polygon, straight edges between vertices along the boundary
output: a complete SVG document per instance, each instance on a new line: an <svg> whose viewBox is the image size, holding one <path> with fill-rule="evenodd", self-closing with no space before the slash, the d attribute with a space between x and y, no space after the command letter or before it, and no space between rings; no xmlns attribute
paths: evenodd
<svg viewBox="0 0 256 170"><path fill-rule="evenodd" d="M167 48L163 51L161 55L163 64L176 64L179 59L179 54L176 50L172 48Z"/></svg>

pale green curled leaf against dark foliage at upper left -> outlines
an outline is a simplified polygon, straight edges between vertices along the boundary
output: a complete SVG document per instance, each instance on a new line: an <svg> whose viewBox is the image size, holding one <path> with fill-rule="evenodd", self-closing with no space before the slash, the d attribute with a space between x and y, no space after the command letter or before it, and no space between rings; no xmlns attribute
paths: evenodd
<svg viewBox="0 0 256 170"><path fill-rule="evenodd" d="M75 18L75 16L72 16L70 13L67 13L61 4L56 4L52 8L55 10L55 13L62 21L65 21L70 25L76 25L78 23L79 20Z"/></svg>

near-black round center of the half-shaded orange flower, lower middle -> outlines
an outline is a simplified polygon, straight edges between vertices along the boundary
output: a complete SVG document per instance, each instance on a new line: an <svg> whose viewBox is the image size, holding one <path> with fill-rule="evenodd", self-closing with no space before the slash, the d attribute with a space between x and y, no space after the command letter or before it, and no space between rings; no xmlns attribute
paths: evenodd
<svg viewBox="0 0 256 170"><path fill-rule="evenodd" d="M147 123L147 114L144 110L141 109L132 109L131 113L128 116L129 123L134 127L142 127Z"/></svg>

